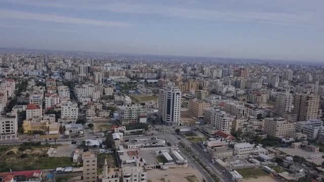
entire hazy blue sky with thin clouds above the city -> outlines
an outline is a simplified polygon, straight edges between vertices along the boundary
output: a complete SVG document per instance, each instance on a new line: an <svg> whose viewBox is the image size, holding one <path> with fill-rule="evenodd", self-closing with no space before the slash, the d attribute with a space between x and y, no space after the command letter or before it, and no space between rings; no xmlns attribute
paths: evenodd
<svg viewBox="0 0 324 182"><path fill-rule="evenodd" d="M323 0L0 0L0 47L323 61Z"/></svg>

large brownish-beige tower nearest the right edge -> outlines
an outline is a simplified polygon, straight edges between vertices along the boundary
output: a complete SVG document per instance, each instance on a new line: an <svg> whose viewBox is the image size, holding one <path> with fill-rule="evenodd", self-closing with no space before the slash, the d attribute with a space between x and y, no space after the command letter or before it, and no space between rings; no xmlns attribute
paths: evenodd
<svg viewBox="0 0 324 182"><path fill-rule="evenodd" d="M295 95L294 108L297 113L297 121L316 119L318 116L319 95L299 94Z"/></svg>

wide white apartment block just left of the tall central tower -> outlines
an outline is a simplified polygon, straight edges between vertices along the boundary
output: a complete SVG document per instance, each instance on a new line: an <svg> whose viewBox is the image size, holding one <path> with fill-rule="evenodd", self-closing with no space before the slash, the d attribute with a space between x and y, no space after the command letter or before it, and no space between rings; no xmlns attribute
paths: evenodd
<svg viewBox="0 0 324 182"><path fill-rule="evenodd" d="M124 105L118 108L119 121L122 125L146 122L147 109L142 105Z"/></svg>

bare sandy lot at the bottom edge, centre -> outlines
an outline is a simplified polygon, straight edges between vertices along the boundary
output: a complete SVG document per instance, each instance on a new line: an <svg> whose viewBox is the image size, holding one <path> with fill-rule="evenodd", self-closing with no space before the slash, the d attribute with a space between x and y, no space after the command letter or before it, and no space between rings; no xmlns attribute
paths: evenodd
<svg viewBox="0 0 324 182"><path fill-rule="evenodd" d="M147 172L147 179L150 179L152 182L161 182L162 178L164 178L166 182L188 182L185 177L189 175L195 175L199 181L203 180L199 171L193 168L154 169Z"/></svg>

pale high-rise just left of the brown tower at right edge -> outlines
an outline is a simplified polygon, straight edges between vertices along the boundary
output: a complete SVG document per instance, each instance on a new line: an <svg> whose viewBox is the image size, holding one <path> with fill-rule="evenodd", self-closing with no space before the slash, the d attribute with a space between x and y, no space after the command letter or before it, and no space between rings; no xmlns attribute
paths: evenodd
<svg viewBox="0 0 324 182"><path fill-rule="evenodd" d="M274 106L274 113L282 116L284 113L290 113L293 105L293 94L278 93L276 95L276 104Z"/></svg>

